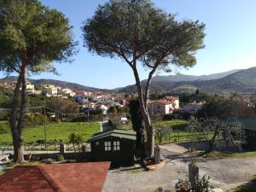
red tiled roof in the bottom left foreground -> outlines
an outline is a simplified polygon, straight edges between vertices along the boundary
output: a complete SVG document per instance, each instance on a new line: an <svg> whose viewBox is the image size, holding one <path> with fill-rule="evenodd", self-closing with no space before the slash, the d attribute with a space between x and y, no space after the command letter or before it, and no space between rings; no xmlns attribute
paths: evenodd
<svg viewBox="0 0 256 192"><path fill-rule="evenodd" d="M109 162L15 166L0 176L0 192L100 192Z"/></svg>

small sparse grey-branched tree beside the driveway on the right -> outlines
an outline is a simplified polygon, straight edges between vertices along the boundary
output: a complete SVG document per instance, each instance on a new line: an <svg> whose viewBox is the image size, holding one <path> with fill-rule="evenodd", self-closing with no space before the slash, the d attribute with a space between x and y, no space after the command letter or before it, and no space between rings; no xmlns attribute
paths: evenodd
<svg viewBox="0 0 256 192"><path fill-rule="evenodd" d="M212 152L215 144L240 148L244 142L244 133L237 121L229 123L217 118L195 119L189 127L192 131L204 135L207 153Z"/></svg>

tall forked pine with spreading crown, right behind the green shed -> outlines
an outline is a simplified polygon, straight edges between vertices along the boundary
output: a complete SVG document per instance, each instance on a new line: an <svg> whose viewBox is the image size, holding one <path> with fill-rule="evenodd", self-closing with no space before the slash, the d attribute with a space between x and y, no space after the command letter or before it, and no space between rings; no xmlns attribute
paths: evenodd
<svg viewBox="0 0 256 192"><path fill-rule="evenodd" d="M199 21L176 20L149 0L110 0L84 23L84 46L98 55L117 56L131 67L150 157L154 154L154 128L148 113L151 79L156 71L170 72L169 64L193 67L196 50L204 47L204 28ZM149 71L144 87L139 62Z"/></svg>

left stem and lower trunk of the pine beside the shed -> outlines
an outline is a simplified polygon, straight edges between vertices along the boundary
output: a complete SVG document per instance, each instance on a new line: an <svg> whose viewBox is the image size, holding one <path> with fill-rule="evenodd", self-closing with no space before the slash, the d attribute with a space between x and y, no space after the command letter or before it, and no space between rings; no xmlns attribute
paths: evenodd
<svg viewBox="0 0 256 192"><path fill-rule="evenodd" d="M140 112L143 116L143 123L145 126L145 130L147 132L148 156L149 158L151 158L154 155L154 129L153 129L153 126L151 125L148 108L146 108L147 104L145 106L145 101L143 98L143 90L142 90L141 82L140 82L136 67L133 67L133 73L134 73L134 77L137 85L137 94L138 94L138 101L140 103Z"/></svg>

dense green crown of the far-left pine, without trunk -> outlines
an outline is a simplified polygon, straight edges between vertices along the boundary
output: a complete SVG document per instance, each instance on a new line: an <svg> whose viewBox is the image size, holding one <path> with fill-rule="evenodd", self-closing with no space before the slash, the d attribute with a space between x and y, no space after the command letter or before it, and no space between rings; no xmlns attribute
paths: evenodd
<svg viewBox="0 0 256 192"><path fill-rule="evenodd" d="M0 1L0 67L19 72L28 61L32 73L55 72L52 61L67 61L73 55L72 27L56 9L39 1Z"/></svg>

